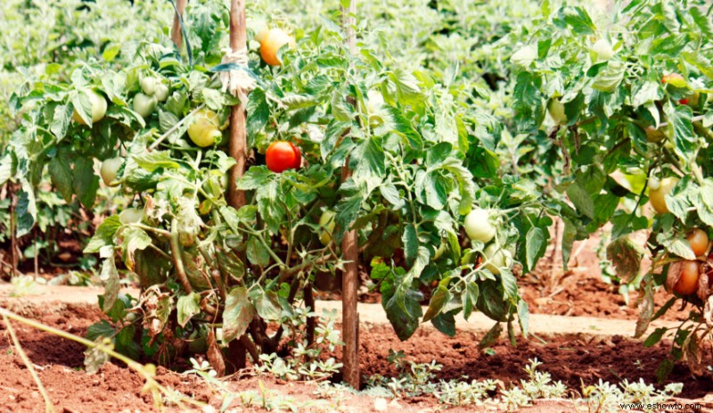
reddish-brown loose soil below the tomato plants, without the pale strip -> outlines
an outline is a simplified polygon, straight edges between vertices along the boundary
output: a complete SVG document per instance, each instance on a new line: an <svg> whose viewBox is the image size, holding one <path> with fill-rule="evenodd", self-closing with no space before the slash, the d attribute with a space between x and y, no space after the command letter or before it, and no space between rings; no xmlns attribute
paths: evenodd
<svg viewBox="0 0 713 413"><path fill-rule="evenodd" d="M76 335L84 335L86 328L101 314L98 310L73 309L61 315L47 314L38 319L46 325L55 326ZM2 324L2 323L0 323ZM20 343L38 370L41 381L58 408L65 412L104 411L147 411L152 409L152 398L143 394L143 380L130 369L118 364L108 364L94 376L83 371L83 351L81 345L53 335L37 332L28 326L13 323ZM44 410L44 403L37 387L12 343L4 334L4 324L0 326L0 412L34 412ZM497 379L508 386L523 378L524 368L529 359L537 358L545 364L541 368L549 371L553 379L568 384L577 391L581 384L595 384L600 379L619 383L643 379L655 383L655 370L668 354L668 343L643 349L640 342L620 336L592 338L584 335L545 337L545 342L531 338L518 340L517 348L505 341L494 344L488 353L478 349L480 336L459 333L454 338L441 335L430 328L420 329L405 343L398 341L389 326L363 325L361 331L364 376L396 374L389 364L389 350L406 352L408 359L417 362L436 360L443 366L438 378L451 379L468 376L470 379ZM488 355L489 354L489 355ZM339 351L333 354L340 357ZM166 368L158 369L159 382L198 401L206 401L215 407L213 392L200 380L192 376L182 376ZM306 403L315 399L314 384L282 383L267 378L260 379L266 384L273 397L280 395L294 403ZM676 366L669 377L670 382L684 383L685 398L701 398L713 392L710 376L695 379L688 370ZM248 376L230 379L229 387L234 392L258 390L258 378ZM346 393L345 393L346 394ZM365 396L344 395L342 405L351 411L369 411L373 400ZM333 402L333 401L332 401ZM239 402L234 406L240 408ZM437 407L433 398L416 398L399 401L406 411L423 411ZM553 407L554 406L554 407ZM552 409L550 409L552 408ZM550 405L544 411L563 411L561 405ZM303 411L315 411L303 409ZM320 410L322 411L322 410ZM427 410L428 411L428 410ZM469 409L453 411L471 411ZM542 411L542 410L540 410Z"/></svg>

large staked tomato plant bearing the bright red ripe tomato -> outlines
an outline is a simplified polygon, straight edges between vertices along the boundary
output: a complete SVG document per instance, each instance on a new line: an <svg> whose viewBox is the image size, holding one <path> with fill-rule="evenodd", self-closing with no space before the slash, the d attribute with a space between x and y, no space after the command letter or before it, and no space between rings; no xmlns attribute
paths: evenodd
<svg viewBox="0 0 713 413"><path fill-rule="evenodd" d="M406 70L369 43L351 54L333 23L290 30L291 47L282 35L251 44L242 70L258 87L246 103L247 138L266 165L254 161L227 183L246 194L236 209L225 200L234 160L221 129L237 100L217 79L227 70L218 64L225 12L220 2L189 4L193 61L162 41L142 42L119 52L120 66L77 65L69 77L34 79L15 98L15 108L37 104L4 158L21 186L21 228L37 219L34 187L45 168L65 199L87 207L102 185L94 161L104 184L134 195L86 247L102 259L111 318L93 333L162 360L196 341L212 346L210 357L235 341L275 351L284 332L266 323L307 301L316 273L343 267L347 230L356 230L359 258L400 338L422 321L454 335L455 315L475 310L496 321L494 332L519 322L527 333L515 274L544 254L545 211L554 210L534 181L500 168L503 126L468 104L473 92L453 81L451 62ZM249 38L262 27L252 21ZM93 120L86 90L105 98L102 118ZM93 121L72 122L75 110ZM352 174L342 181L345 162ZM141 296L120 294L120 277L135 277ZM422 288L434 281L426 299Z"/></svg>

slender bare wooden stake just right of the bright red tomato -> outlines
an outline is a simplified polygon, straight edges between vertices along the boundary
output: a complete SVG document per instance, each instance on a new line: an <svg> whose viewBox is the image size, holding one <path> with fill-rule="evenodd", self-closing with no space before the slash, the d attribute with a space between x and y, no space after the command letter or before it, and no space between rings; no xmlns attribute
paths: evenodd
<svg viewBox="0 0 713 413"><path fill-rule="evenodd" d="M356 0L349 2L348 8L342 8L342 28L346 35L345 42L351 54L356 54ZM354 104L352 100L350 103ZM341 181L351 177L349 159L341 168ZM359 285L357 272L358 244L356 230L347 231L341 241L341 252L348 263L344 266L341 280L341 317L344 339L344 382L359 388L359 313L356 310L356 290Z"/></svg>

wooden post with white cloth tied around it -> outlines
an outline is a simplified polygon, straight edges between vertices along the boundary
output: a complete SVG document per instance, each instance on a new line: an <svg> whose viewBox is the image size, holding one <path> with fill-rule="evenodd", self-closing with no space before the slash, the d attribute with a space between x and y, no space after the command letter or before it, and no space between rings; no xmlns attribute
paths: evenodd
<svg viewBox="0 0 713 413"><path fill-rule="evenodd" d="M248 34L245 28L245 0L231 0L230 3L230 48L233 52L244 49L248 45ZM247 158L248 132L246 128L245 107L242 103L230 108L230 143L228 152L235 160L235 165L228 172L228 205L240 209L245 205L245 193L238 191L235 182L245 172ZM244 339L244 337L242 337ZM247 351L240 340L228 344L230 365L236 369L245 368ZM255 360L256 362L258 360Z"/></svg>

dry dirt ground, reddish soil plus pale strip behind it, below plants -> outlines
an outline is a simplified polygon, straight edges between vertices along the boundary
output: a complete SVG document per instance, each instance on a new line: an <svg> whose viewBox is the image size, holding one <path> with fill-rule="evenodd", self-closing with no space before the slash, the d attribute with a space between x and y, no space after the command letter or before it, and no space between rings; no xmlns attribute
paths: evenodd
<svg viewBox="0 0 713 413"><path fill-rule="evenodd" d="M101 289L78 287L52 287L40 294L22 298L9 297L11 289L0 285L0 305L32 318L48 326L55 326L75 335L84 335L86 328L101 317L94 302ZM324 309L339 308L339 301L322 301ZM582 384L595 384L600 379L619 383L643 378L655 383L655 371L660 360L668 355L668 343L660 343L644 349L640 341L627 338L633 331L634 321L626 318L590 318L533 315L531 328L537 338L520 338L517 347L501 341L488 351L478 348L479 339L491 324L485 319L471 318L471 322L459 326L455 337L441 335L428 326L422 327L411 339L399 342L386 325L383 311L378 304L360 304L361 369L365 376L381 374L393 376L394 368L387 357L389 350L403 350L409 359L417 362L436 362L443 366L439 379L461 378L496 379L505 386L517 384L524 377L524 368L529 359L544 362L542 370L561 380L570 389L578 391ZM670 321L669 321L670 322ZM0 323L0 412L43 411L44 403L37 386L29 376L16 351L4 335ZM77 343L37 332L29 326L13 323L22 347L37 367L39 377L56 411L103 412L103 411L151 411L152 397L141 392L143 380L123 365L110 363L94 375L83 371L85 350ZM332 354L339 358L340 352ZM219 407L217 393L194 376L183 376L166 368L159 368L158 379L172 389ZM686 400L697 400L701 406L710 406L707 395L713 392L711 377L693 378L684 366L676 366L669 382L684 383ZM227 382L233 392L252 391L250 403L234 401L235 411L260 410L259 384L266 386L266 401L283 409L293 407L299 411L373 411L374 399L365 395L347 392L332 392L329 399L320 399L316 384L285 383L257 377L250 372ZM443 409L435 398L420 397L390 401L388 409L403 411L436 411ZM247 406L246 406L247 405ZM481 409L495 409L486 407ZM173 410L180 410L173 408ZM472 409L449 409L449 411L472 411ZM520 410L520 411L525 411ZM542 401L529 411L559 412L575 411L569 401ZM579 410L586 411L586 410ZM703 408L701 411L707 411Z"/></svg>

